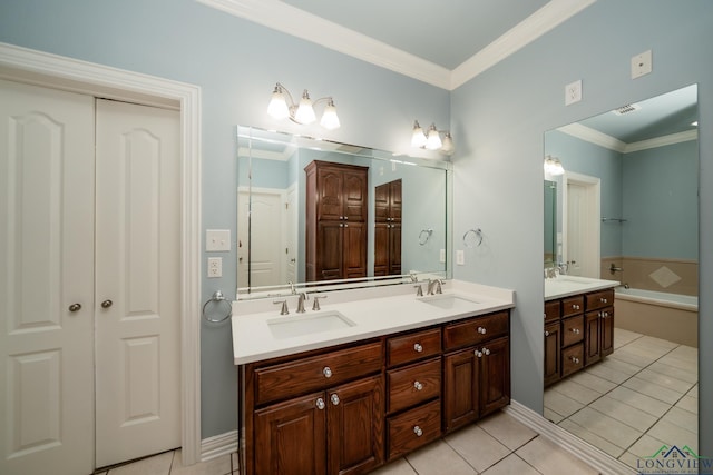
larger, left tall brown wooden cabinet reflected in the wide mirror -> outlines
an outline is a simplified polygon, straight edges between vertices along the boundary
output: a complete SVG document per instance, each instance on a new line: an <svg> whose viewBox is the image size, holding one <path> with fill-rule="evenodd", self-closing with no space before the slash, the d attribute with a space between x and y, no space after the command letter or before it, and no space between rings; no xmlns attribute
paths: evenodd
<svg viewBox="0 0 713 475"><path fill-rule="evenodd" d="M313 160L306 172L306 279L367 276L368 167Z"/></svg>

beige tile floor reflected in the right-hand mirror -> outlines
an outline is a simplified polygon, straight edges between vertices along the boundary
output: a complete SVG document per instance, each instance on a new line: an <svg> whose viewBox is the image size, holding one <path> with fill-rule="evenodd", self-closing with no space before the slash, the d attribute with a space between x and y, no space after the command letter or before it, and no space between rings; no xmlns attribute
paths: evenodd
<svg viewBox="0 0 713 475"><path fill-rule="evenodd" d="M545 417L636 467L662 445L699 445L699 352L617 328L614 353L545 390Z"/></svg>

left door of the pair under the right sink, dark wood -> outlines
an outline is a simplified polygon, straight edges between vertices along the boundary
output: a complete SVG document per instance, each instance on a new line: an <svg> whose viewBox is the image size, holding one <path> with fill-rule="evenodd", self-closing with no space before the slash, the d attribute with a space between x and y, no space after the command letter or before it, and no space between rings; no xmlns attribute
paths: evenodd
<svg viewBox="0 0 713 475"><path fill-rule="evenodd" d="M475 348L443 358L443 428L452 431L479 416L479 366Z"/></svg>

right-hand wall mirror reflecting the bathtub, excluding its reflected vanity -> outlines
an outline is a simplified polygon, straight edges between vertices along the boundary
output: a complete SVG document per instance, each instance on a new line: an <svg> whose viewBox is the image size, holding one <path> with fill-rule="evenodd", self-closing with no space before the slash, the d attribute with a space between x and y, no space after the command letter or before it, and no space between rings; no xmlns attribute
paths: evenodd
<svg viewBox="0 0 713 475"><path fill-rule="evenodd" d="M614 353L545 389L547 418L636 467L697 452L697 88L545 133L545 267L622 283Z"/></svg>

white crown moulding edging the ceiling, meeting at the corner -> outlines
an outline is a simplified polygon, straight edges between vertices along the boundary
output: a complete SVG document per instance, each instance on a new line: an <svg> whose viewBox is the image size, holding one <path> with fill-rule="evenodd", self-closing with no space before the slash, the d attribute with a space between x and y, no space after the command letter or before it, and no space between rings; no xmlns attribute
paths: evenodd
<svg viewBox="0 0 713 475"><path fill-rule="evenodd" d="M550 0L452 71L277 0L196 0L446 90L453 90L568 20L596 0Z"/></svg>

